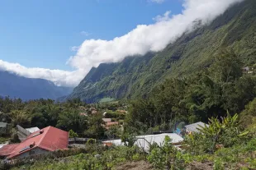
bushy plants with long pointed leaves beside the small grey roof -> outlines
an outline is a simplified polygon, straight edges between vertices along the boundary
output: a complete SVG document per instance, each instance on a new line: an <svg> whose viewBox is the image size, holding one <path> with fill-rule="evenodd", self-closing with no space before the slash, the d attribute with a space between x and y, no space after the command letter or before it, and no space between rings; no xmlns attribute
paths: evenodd
<svg viewBox="0 0 256 170"><path fill-rule="evenodd" d="M212 117L209 126L201 126L199 133L187 136L185 147L192 154L214 153L216 145L231 147L248 139L249 131L241 131L238 114L228 115L222 121Z"/></svg>

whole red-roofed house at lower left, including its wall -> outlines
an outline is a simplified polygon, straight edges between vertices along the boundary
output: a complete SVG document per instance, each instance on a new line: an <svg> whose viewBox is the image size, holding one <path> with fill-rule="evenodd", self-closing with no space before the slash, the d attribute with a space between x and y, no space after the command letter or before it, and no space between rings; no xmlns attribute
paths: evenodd
<svg viewBox="0 0 256 170"><path fill-rule="evenodd" d="M38 154L49 154L58 149L68 149L69 132L53 126L45 127L27 136L20 144L4 145L0 156L7 159L22 159Z"/></svg>

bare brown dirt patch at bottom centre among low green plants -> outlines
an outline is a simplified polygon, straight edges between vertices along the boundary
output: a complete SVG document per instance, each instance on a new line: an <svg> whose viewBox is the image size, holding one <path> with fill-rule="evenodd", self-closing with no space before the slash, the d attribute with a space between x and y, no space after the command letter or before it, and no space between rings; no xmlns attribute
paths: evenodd
<svg viewBox="0 0 256 170"><path fill-rule="evenodd" d="M154 168L145 161L130 162L116 166L116 170L153 170Z"/></svg>

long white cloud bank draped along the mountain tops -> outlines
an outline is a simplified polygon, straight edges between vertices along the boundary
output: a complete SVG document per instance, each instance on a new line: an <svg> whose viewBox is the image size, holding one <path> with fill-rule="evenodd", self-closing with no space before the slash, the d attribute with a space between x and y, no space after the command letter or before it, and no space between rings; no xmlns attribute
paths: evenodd
<svg viewBox="0 0 256 170"><path fill-rule="evenodd" d="M137 25L129 33L111 40L87 39L71 50L77 53L67 62L76 71L49 70L44 68L26 68L19 64L0 60L0 69L12 71L21 76L52 80L57 85L78 85L78 82L92 67L102 62L120 62L126 56L144 55L149 51L160 51L188 30L192 30L193 21L201 20L207 24L222 14L230 5L243 0L184 0L183 11L178 15L154 17L152 25Z"/></svg>

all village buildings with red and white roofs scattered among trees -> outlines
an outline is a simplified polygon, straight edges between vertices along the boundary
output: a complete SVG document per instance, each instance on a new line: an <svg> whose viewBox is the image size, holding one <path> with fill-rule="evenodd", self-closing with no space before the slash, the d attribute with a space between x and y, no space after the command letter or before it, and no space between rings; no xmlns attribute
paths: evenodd
<svg viewBox="0 0 256 170"><path fill-rule="evenodd" d="M93 109L92 114L96 113L96 109ZM126 111L121 111L126 113ZM85 113L81 113L83 116L88 116ZM107 112L103 113L106 117ZM122 124L119 122L111 122L111 118L102 118L104 122L102 126L106 129L110 129L112 126L122 128ZM183 124L183 123L182 123ZM7 123L0 122L1 131L7 130ZM135 143L140 149L149 151L149 145L154 143L162 145L164 143L164 137L169 136L172 140L172 144L178 149L181 148L183 142L183 136L186 134L197 133L202 126L208 126L202 122L193 123L186 126L177 127L176 131L172 133L166 131L154 132L151 135L135 136ZM33 156L40 154L50 154L50 152L56 150L73 149L75 147L86 147L86 142L91 140L89 138L79 138L76 136L70 137L68 131L60 130L54 126L47 126L43 129L38 127L23 128L17 125L17 132L21 143L17 144L2 144L0 148L0 157L2 160L15 160L15 159L30 159ZM116 140L100 140L103 146L111 147L113 145L125 145L121 139Z"/></svg>

